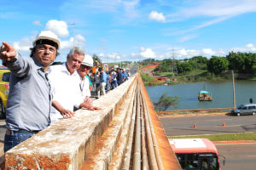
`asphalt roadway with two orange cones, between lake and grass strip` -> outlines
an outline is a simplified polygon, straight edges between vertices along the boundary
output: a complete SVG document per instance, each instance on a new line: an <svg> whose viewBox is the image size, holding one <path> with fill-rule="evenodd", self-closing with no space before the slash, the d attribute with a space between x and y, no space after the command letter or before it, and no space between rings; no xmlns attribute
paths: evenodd
<svg viewBox="0 0 256 170"><path fill-rule="evenodd" d="M167 117L160 118L160 122L167 136L256 132L256 116Z"/></svg>

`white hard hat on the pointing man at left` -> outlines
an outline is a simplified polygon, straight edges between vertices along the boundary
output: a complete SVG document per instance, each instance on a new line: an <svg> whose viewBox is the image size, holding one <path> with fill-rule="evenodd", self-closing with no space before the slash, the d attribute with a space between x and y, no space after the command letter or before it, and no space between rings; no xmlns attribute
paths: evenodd
<svg viewBox="0 0 256 170"><path fill-rule="evenodd" d="M56 49L60 48L61 46L60 39L52 31L41 31L33 41L33 46L36 47L36 45L44 43L52 45Z"/></svg>

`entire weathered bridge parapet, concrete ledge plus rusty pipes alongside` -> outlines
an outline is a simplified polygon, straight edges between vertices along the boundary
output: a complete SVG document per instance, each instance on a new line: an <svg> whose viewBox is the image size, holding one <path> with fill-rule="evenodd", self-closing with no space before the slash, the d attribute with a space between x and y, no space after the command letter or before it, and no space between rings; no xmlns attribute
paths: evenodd
<svg viewBox="0 0 256 170"><path fill-rule="evenodd" d="M9 150L6 169L181 169L138 74Z"/></svg>

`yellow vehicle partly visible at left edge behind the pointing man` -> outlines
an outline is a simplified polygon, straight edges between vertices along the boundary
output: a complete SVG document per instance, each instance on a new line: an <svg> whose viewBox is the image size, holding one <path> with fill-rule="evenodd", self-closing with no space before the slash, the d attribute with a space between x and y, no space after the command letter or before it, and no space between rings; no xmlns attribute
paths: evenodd
<svg viewBox="0 0 256 170"><path fill-rule="evenodd" d="M0 67L0 118L5 118L5 108L9 94L10 71L7 67Z"/></svg>

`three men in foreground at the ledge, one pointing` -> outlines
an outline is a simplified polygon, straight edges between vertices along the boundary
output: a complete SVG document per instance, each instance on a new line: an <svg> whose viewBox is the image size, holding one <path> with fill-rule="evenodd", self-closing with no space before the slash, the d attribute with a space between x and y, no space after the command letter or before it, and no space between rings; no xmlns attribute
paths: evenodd
<svg viewBox="0 0 256 170"><path fill-rule="evenodd" d="M90 99L90 82L85 78L93 66L91 57L74 47L63 65L51 65L60 44L55 33L41 31L30 57L22 57L7 42L0 47L0 59L11 71L5 152L63 117L73 116L76 109L100 110Z"/></svg>

